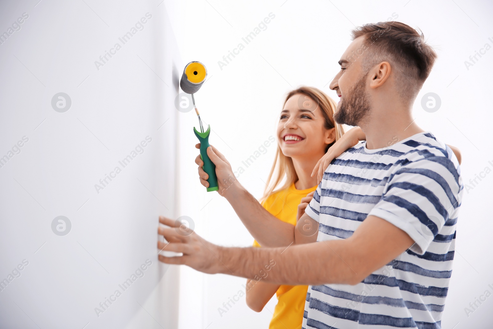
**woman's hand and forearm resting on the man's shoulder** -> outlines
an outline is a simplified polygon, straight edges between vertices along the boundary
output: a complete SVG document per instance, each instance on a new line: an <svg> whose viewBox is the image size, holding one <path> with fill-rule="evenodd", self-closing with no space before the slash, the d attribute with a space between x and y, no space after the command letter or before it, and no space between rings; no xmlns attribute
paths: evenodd
<svg viewBox="0 0 493 329"><path fill-rule="evenodd" d="M355 146L359 141L366 141L366 135L361 128L354 127L348 130L341 138L330 146L320 160L318 160L312 172L312 177L317 175L318 183L322 181L323 173L329 166L330 162L341 155L348 148Z"/></svg>

